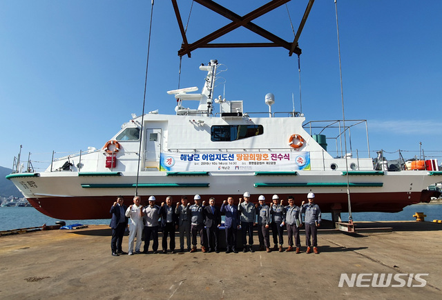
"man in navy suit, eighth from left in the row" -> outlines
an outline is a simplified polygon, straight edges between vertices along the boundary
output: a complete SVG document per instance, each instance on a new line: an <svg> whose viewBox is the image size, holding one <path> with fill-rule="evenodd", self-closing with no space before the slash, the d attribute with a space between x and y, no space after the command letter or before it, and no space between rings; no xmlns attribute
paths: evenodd
<svg viewBox="0 0 442 300"><path fill-rule="evenodd" d="M226 202L229 203L226 205ZM227 198L224 200L221 206L221 212L225 214L226 219L224 219L224 230L226 231L226 253L235 252L236 250L236 232L238 227L240 227L240 214L238 213L238 208L233 206L233 198Z"/></svg>

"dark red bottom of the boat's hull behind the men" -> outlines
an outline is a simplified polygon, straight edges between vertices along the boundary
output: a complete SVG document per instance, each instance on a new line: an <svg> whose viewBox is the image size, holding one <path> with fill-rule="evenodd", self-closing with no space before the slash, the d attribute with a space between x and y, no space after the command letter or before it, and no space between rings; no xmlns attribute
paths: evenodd
<svg viewBox="0 0 442 300"><path fill-rule="evenodd" d="M280 199L285 199L287 205L287 196L289 194L278 194ZM157 204L160 204L168 195L155 195ZM193 203L193 195L186 195L190 203ZM200 195L203 200L208 201L211 195ZM239 194L222 194L215 197L215 205L221 206L223 200L232 196L235 203L242 197ZM264 194L266 203L271 202L273 194ZM307 199L293 194L296 205ZM141 195L142 204L147 205L147 195ZM431 197L436 197L433 191L423 190L422 192L393 192L393 193L355 193L351 194L352 212L400 212L405 206L419 202L429 202ZM124 196L124 204L129 206L133 203L133 195ZM179 196L173 196L173 206L180 201ZM253 194L251 202L258 203L258 194ZM115 202L115 196L102 197L48 197L48 198L28 198L28 201L42 214L46 214L54 219L63 220L81 220L81 219L110 219L111 206ZM348 211L347 194L320 194L316 193L315 203L320 206L322 212L331 212L332 210Z"/></svg>

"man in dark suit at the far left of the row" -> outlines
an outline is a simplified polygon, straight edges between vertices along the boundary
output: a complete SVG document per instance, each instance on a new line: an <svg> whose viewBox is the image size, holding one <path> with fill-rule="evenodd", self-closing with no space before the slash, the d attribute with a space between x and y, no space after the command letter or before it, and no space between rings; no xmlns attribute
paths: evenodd
<svg viewBox="0 0 442 300"><path fill-rule="evenodd" d="M114 257L117 257L119 254L127 254L122 250L124 230L126 230L128 223L128 218L124 215L127 207L123 202L122 196L117 197L117 201L113 203L110 212L112 219L109 227L112 228L111 249Z"/></svg>

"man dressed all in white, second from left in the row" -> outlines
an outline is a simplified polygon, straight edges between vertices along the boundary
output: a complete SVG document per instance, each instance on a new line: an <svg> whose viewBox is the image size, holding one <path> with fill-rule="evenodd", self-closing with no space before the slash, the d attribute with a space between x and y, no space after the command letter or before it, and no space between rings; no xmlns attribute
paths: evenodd
<svg viewBox="0 0 442 300"><path fill-rule="evenodd" d="M137 238L137 243L135 244L135 253L140 254L140 247L142 242L143 234L143 207L140 204L140 196L133 197L133 204L129 206L126 210L126 217L131 218L129 225L129 246L128 254L133 254L133 243L135 237Z"/></svg>

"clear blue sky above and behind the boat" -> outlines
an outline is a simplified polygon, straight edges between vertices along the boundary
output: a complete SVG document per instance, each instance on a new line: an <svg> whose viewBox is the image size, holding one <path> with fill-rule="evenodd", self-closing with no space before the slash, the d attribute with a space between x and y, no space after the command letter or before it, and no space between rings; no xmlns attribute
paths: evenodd
<svg viewBox="0 0 442 300"><path fill-rule="evenodd" d="M178 2L186 23L191 1ZM246 14L266 1L218 2ZM287 4L295 29L306 5ZM148 0L0 1L0 166L12 166L19 145L22 157L47 153L48 161L52 150L102 148L131 113L141 114L150 12ZM439 0L338 0L345 117L367 119L372 152L418 151L422 142L425 154L442 160L441 15ZM285 6L254 22L294 37ZM188 39L227 23L194 3ZM146 112L174 112L166 91L177 88L181 41L171 2L155 1ZM265 42L244 28L222 41ZM308 121L342 119L333 0L314 3L299 44L302 112ZM287 50L195 50L182 59L181 88L201 88L198 66L210 59L227 66L225 97L243 100L245 111L267 111L268 92L273 111L291 110L292 93L299 110L297 59Z"/></svg>

